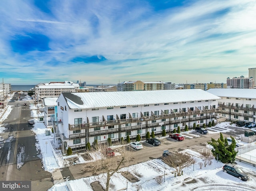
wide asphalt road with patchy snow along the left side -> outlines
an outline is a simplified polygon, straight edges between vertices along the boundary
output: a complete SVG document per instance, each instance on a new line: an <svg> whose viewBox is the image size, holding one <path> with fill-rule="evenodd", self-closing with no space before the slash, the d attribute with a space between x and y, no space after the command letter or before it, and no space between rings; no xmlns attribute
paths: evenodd
<svg viewBox="0 0 256 191"><path fill-rule="evenodd" d="M32 191L46 191L53 186L51 174L42 169L40 151L36 150L35 134L28 106L16 101L8 118L2 124L8 130L1 134L6 139L0 149L0 179L6 181L32 181Z"/></svg>

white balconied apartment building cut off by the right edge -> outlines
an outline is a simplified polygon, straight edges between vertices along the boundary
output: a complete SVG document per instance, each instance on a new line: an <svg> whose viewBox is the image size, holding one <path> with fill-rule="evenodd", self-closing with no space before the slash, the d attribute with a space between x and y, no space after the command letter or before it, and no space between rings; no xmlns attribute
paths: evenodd
<svg viewBox="0 0 256 191"><path fill-rule="evenodd" d="M207 92L219 96L220 118L255 122L256 89L209 89Z"/></svg>

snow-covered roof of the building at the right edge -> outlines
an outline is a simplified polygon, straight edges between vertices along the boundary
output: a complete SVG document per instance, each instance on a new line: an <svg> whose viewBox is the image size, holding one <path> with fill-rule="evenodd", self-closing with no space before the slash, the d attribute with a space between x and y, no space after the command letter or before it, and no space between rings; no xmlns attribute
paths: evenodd
<svg viewBox="0 0 256 191"><path fill-rule="evenodd" d="M256 99L256 89L222 89L212 88L208 93L219 97L252 98Z"/></svg>

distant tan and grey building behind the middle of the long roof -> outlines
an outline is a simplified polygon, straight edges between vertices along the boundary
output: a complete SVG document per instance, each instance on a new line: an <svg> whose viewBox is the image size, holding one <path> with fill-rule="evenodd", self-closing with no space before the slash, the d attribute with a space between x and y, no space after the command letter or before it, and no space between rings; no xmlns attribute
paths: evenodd
<svg viewBox="0 0 256 191"><path fill-rule="evenodd" d="M162 81L124 81L118 83L117 91L152 91L164 90L164 82Z"/></svg>

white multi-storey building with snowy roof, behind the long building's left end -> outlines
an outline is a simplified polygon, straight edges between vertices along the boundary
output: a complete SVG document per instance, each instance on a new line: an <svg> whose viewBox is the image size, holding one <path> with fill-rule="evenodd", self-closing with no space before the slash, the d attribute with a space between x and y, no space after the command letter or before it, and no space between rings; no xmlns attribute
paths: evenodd
<svg viewBox="0 0 256 191"><path fill-rule="evenodd" d="M79 84L72 81L40 83L35 86L35 102L42 102L43 98L58 97L62 92L76 92Z"/></svg>

